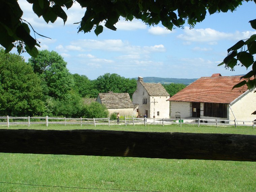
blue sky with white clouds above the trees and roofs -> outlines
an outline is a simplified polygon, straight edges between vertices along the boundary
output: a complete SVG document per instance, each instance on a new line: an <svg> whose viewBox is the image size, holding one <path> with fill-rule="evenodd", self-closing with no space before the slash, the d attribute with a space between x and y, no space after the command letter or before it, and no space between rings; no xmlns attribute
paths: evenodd
<svg viewBox="0 0 256 192"><path fill-rule="evenodd" d="M120 18L117 31L104 27L95 35L77 33L78 24L85 13L78 3L66 10L68 19L64 25L58 18L47 24L33 12L26 0L18 0L23 10L22 19L28 21L41 42L39 50L56 51L67 62L70 73L96 79L105 73L117 73L126 78L168 77L200 78L220 73L222 76L246 74L251 70L236 66L235 71L217 66L227 56L227 49L241 39L249 38L256 31L250 20L255 19L256 4L243 2L236 11L207 13L194 29L185 24L184 29L167 30L161 24L148 26L141 20L132 22ZM12 53L16 53L15 48ZM22 54L26 61L28 54Z"/></svg>

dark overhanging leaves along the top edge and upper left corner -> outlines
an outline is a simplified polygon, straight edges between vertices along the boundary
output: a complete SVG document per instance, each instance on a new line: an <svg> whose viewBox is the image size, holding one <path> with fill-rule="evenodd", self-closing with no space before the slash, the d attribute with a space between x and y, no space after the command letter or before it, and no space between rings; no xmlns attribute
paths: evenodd
<svg viewBox="0 0 256 192"><path fill-rule="evenodd" d="M69 9L74 0L27 0L33 4L33 11L38 17L43 17L46 23L54 23L59 17L64 24L67 21L65 9ZM245 0L249 1L249 0ZM255 1L255 0L254 0ZM197 22L204 20L206 11L233 11L242 5L242 0L76 0L85 7L85 15L78 24L78 32L87 33L94 30L96 35L103 31L103 25L111 30L117 30L115 24L120 17L132 21L141 19L147 25L160 22L167 29L183 27L187 22L194 27ZM0 0L0 44L9 52L14 46L18 53L28 52L37 56L36 46L40 45L34 36L38 34L30 24L22 19L23 11L17 0ZM30 27L29 27L30 26ZM30 29L33 30L32 35ZM40 35L43 36L43 35Z"/></svg>

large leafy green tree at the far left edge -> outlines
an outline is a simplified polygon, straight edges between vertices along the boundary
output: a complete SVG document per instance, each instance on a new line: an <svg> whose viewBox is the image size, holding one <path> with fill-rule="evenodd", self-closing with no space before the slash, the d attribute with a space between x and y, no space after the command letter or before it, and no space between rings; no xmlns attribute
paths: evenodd
<svg viewBox="0 0 256 192"><path fill-rule="evenodd" d="M33 116L44 112L40 78L23 57L0 47L0 116Z"/></svg>

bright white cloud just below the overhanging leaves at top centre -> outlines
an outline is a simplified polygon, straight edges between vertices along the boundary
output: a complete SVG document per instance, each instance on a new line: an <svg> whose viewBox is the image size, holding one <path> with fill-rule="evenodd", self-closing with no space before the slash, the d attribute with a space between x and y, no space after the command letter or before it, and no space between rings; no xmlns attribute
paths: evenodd
<svg viewBox="0 0 256 192"><path fill-rule="evenodd" d="M137 29L146 29L147 26L145 23L139 21L139 20L132 20L132 21L119 21L115 25L117 30L126 30L126 31L134 31Z"/></svg>

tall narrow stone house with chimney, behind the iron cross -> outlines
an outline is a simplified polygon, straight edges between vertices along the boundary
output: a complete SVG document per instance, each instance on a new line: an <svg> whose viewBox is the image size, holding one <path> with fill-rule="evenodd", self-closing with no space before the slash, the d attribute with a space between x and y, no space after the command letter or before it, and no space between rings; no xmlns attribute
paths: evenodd
<svg viewBox="0 0 256 192"><path fill-rule="evenodd" d="M132 95L132 102L138 104L138 116L144 114L148 118L169 118L170 95L160 83L144 83L142 77L138 77L137 89Z"/></svg>

